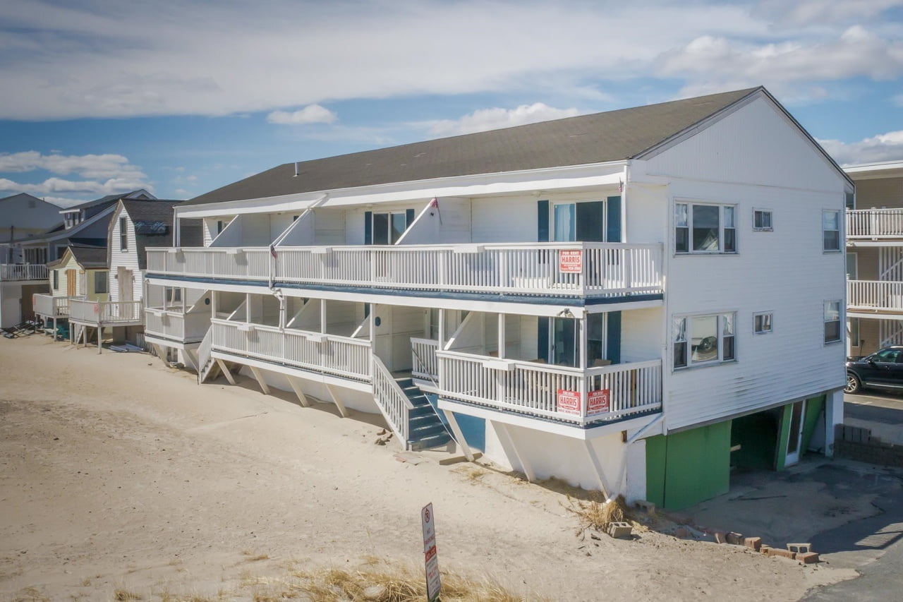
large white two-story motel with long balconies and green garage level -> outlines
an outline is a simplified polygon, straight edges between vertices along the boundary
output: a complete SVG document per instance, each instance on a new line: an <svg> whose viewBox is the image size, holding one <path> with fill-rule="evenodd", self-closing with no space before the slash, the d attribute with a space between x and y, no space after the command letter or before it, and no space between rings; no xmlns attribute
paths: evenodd
<svg viewBox="0 0 903 602"><path fill-rule="evenodd" d="M148 340L209 307L201 381L683 507L832 453L852 191L763 88L280 165L175 208Z"/></svg>

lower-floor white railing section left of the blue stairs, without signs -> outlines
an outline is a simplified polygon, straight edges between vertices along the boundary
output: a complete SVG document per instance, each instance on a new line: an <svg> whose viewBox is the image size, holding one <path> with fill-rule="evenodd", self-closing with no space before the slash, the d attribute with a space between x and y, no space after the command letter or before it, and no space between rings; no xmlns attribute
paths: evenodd
<svg viewBox="0 0 903 602"><path fill-rule="evenodd" d="M370 381L370 342L277 326L210 320L213 351Z"/></svg>

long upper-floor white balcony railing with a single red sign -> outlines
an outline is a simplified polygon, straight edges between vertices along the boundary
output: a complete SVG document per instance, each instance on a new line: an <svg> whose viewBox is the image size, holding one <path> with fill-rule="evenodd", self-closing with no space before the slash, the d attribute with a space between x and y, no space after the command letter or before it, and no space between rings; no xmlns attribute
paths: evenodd
<svg viewBox="0 0 903 602"><path fill-rule="evenodd" d="M147 249L160 275L353 287L622 296L661 293L662 246L627 243Z"/></svg>

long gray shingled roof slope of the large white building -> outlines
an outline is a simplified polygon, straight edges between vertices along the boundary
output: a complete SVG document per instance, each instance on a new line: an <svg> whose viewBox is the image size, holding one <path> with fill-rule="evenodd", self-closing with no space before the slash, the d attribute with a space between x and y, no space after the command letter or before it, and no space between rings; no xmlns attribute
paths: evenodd
<svg viewBox="0 0 903 602"><path fill-rule="evenodd" d="M293 177L294 164L286 163L201 194L185 204L625 160L641 155L759 89L314 159L298 164L298 177Z"/></svg>

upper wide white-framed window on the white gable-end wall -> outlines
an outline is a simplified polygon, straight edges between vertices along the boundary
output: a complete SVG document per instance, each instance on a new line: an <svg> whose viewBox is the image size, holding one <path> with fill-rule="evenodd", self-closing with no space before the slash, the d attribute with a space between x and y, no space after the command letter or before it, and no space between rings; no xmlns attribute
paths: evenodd
<svg viewBox="0 0 903 602"><path fill-rule="evenodd" d="M675 203L676 253L736 253L733 205Z"/></svg>

